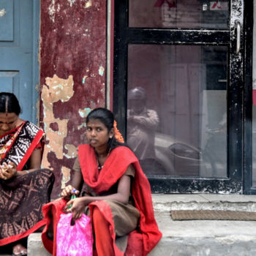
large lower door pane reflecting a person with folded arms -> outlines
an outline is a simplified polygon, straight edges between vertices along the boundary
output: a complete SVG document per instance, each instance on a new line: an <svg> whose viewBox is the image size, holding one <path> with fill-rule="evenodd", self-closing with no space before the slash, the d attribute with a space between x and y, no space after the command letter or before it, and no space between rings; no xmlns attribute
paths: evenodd
<svg viewBox="0 0 256 256"><path fill-rule="evenodd" d="M127 143L147 175L227 176L227 48L129 45Z"/></svg>

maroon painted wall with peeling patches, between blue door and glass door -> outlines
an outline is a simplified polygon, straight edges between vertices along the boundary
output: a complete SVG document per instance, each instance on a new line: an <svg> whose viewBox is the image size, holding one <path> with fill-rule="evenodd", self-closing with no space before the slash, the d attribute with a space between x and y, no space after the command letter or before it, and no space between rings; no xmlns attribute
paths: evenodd
<svg viewBox="0 0 256 256"><path fill-rule="evenodd" d="M42 166L56 176L56 198L86 142L87 113L105 106L106 1L41 0L40 29Z"/></svg>

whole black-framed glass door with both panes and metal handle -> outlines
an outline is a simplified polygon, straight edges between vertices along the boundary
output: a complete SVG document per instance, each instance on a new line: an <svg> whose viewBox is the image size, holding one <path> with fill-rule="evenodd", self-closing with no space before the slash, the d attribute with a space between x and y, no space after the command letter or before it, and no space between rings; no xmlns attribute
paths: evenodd
<svg viewBox="0 0 256 256"><path fill-rule="evenodd" d="M152 192L242 192L243 1L115 3L113 109Z"/></svg>

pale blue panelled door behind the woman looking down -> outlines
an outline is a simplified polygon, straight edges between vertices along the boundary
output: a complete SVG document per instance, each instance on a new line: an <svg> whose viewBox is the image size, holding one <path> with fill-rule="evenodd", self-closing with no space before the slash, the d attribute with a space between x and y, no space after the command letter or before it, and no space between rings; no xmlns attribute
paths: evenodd
<svg viewBox="0 0 256 256"><path fill-rule="evenodd" d="M21 118L36 122L39 1L0 1L0 91L20 101Z"/></svg>

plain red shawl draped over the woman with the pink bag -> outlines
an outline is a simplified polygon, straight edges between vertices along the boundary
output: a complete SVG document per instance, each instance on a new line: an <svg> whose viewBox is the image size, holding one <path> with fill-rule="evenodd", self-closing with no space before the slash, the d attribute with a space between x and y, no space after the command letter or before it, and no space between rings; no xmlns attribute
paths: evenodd
<svg viewBox="0 0 256 256"><path fill-rule="evenodd" d="M119 146L110 152L106 159L104 167L99 172L97 167L97 159L95 157L94 148L89 145L81 145L78 148L78 157L80 167L83 173L83 179L95 192L101 194L108 191L113 184L116 184L119 178L124 175L127 167L133 164L136 170L135 178L132 182L132 196L135 200L135 207L140 211L139 228L129 233L128 245L125 255L147 255L162 237L157 222L154 219L154 211L151 199L151 188L148 179L140 168L137 157L132 151L125 147ZM56 203L49 203L43 207L43 213L48 222L50 222L49 209L53 209L53 228L56 230L56 225L59 221L58 214L60 208L64 206L64 200L57 200ZM109 223L110 236L113 238L113 249L115 256L124 255L115 244L116 234L114 232L114 224L110 207L104 201L95 201L89 204L90 212L97 207ZM42 233L42 241L45 248L50 253L55 255L56 244L55 240L50 241L46 236L47 227Z"/></svg>

